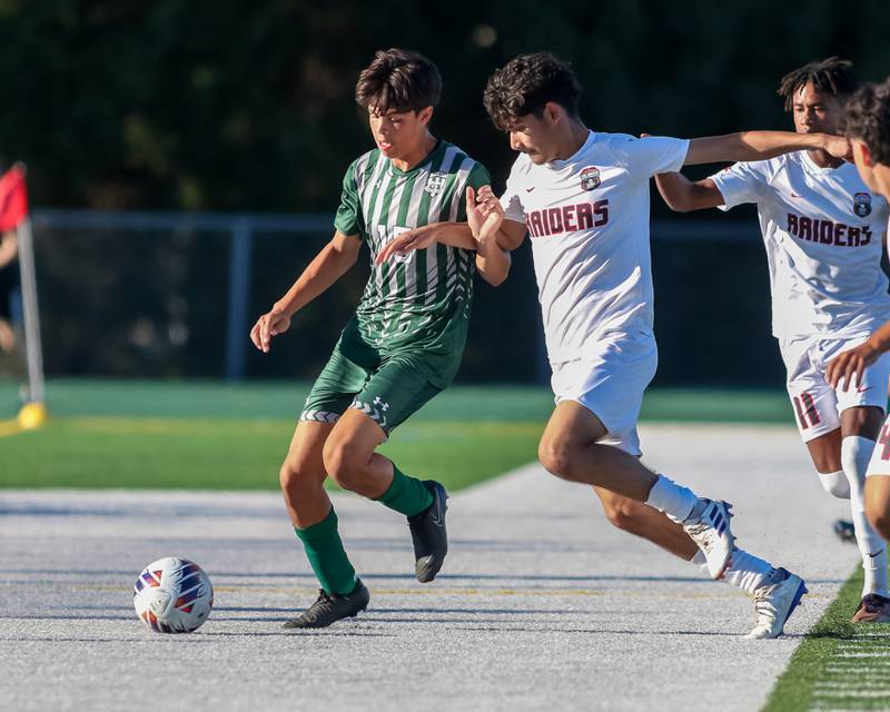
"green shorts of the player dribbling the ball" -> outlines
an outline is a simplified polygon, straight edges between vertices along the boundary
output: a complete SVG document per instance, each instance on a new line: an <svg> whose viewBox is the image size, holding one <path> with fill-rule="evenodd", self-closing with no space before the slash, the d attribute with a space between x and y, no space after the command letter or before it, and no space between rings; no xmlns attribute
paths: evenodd
<svg viewBox="0 0 890 712"><path fill-rule="evenodd" d="M419 354L382 357L364 344L342 338L315 382L300 421L336 423L357 408L389 436L433 396L442 392L426 377Z"/></svg>

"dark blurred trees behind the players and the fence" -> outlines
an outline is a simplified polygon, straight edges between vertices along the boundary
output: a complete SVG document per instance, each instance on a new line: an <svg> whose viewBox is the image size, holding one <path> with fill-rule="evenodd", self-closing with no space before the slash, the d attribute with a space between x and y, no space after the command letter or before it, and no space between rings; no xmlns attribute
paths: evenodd
<svg viewBox="0 0 890 712"><path fill-rule="evenodd" d="M0 157L28 164L38 207L330 212L346 166L370 147L353 90L376 49L438 65L434 130L500 188L513 155L481 95L516 53L571 60L594 129L699 136L789 128L775 95L784 72L839 55L880 80L889 37L890 10L876 0L0 0ZM659 199L653 215L675 217ZM779 384L754 211L703 217L744 220L751 240L654 246L659 382ZM255 243L251 315L327 237ZM38 238L50 374L221 374L226 236ZM528 261L516 255L504 287L478 289L462 378L541 377ZM273 358L251 355L249 375L312 377L362 281L358 269L307 309Z"/></svg>

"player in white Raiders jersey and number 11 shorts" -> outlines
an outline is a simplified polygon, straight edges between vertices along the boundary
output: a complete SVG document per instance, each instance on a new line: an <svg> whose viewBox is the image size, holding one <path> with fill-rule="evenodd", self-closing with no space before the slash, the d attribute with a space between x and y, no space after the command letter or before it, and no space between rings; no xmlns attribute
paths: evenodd
<svg viewBox="0 0 890 712"><path fill-rule="evenodd" d="M840 134L844 103L858 86L849 61L811 62L782 78L779 95L800 134ZM772 333L788 369L798 428L822 486L850 500L866 572L853 622L890 616L887 543L864 515L866 469L887 404L890 354L863 372L856 388L838 389L825 370L888 318L881 269L888 204L852 164L824 150L740 162L692 182L678 172L655 178L674 210L754 202L772 290Z"/></svg>

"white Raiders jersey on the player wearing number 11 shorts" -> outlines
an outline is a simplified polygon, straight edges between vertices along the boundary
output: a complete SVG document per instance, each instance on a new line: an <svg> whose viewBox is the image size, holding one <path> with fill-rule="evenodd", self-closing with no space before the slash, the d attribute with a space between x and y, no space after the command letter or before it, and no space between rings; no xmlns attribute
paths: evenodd
<svg viewBox="0 0 890 712"><path fill-rule="evenodd" d="M735 164L711 178L722 209L758 206L774 336L854 338L890 318L881 269L888 205L856 166L820 168L798 151Z"/></svg>

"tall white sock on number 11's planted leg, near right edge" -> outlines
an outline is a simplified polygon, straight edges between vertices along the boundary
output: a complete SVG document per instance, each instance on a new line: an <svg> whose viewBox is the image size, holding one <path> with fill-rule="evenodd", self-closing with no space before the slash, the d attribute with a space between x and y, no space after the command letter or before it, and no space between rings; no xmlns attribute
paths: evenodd
<svg viewBox="0 0 890 712"><path fill-rule="evenodd" d="M874 441L850 435L841 441L841 464L850 483L850 514L856 531L856 542L862 555L866 583L862 595L877 593L890 596L887 587L887 542L866 518L866 471L871 459Z"/></svg>

